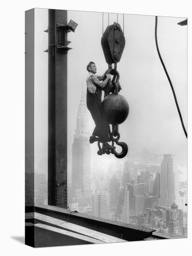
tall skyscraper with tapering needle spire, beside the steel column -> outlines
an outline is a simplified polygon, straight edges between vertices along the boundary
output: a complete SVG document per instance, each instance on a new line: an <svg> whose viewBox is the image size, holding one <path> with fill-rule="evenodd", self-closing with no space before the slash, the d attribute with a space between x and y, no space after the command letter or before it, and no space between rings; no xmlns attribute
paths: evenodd
<svg viewBox="0 0 192 256"><path fill-rule="evenodd" d="M72 145L72 190L73 196L90 195L91 151L87 121L87 108L83 92L79 103L76 119L76 130Z"/></svg>

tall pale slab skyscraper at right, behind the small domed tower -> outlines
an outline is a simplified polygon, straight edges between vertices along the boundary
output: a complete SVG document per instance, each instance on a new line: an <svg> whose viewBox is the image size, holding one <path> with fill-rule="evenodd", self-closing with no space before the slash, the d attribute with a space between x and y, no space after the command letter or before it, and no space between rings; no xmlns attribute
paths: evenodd
<svg viewBox="0 0 192 256"><path fill-rule="evenodd" d="M172 155L164 154L160 175L160 206L171 207L175 201L175 174Z"/></svg>

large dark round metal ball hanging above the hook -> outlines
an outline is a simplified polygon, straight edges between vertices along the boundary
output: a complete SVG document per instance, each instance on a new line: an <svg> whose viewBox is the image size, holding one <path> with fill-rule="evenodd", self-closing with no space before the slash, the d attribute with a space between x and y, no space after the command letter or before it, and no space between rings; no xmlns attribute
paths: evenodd
<svg viewBox="0 0 192 256"><path fill-rule="evenodd" d="M110 124L121 124L129 114L129 104L120 94L109 94L102 105L106 121Z"/></svg>

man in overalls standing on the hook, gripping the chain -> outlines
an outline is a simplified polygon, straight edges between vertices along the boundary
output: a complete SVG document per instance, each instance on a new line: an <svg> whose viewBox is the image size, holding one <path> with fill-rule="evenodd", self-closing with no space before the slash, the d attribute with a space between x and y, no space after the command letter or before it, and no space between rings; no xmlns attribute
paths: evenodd
<svg viewBox="0 0 192 256"><path fill-rule="evenodd" d="M93 130L93 134L90 137L90 143L95 141L100 141L103 143L104 150L115 149L115 147L108 144L109 141L109 130L108 123L105 119L103 109L102 109L102 89L105 88L109 79L111 79L110 74L106 74L106 79L104 80L104 75L96 75L97 67L93 61L90 61L86 67L88 74L86 77L87 94L86 94L86 105L89 109L96 127ZM102 81L102 82L101 82Z"/></svg>

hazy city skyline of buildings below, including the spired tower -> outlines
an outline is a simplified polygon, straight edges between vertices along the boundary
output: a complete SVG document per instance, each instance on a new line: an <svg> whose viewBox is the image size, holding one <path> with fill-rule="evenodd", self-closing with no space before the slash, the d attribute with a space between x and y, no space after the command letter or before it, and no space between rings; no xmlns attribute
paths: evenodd
<svg viewBox="0 0 192 256"><path fill-rule="evenodd" d="M73 141L72 167L76 168L73 168L69 189L69 208L95 217L154 228L157 234L167 238L186 237L186 190L184 187L179 188L179 177L175 179L176 167L173 165L172 154L164 154L161 163L157 164L152 163L156 159L154 154L144 149L142 161L132 162L125 159L120 164L116 160L116 165L109 166L113 170L111 173L98 173L95 176L99 165L94 167L95 172L92 173L92 155L87 154L87 148L91 151L91 147L83 146L89 139L86 118L82 93ZM77 138L82 147L77 147ZM87 172L87 176L81 175L86 184L90 184L90 192L86 195L83 195L81 189L84 181L80 180L79 187L75 187L74 182L81 173L84 161L90 161L90 172Z"/></svg>

